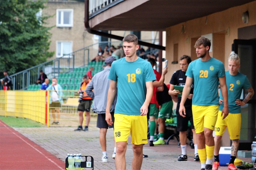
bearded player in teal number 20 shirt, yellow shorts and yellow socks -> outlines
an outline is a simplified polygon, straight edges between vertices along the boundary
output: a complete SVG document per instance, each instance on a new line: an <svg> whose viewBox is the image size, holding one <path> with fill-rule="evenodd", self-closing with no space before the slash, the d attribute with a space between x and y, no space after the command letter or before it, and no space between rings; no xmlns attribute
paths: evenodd
<svg viewBox="0 0 256 170"><path fill-rule="evenodd" d="M201 37L195 43L197 57L192 61L186 72L186 83L182 92L179 113L186 116L184 103L190 93L194 81L194 94L192 98L192 114L195 131L197 133L197 148L201 162L201 170L212 169L214 139L212 132L218 117L219 98L218 82L223 94L223 119L228 115L227 85L224 65L221 61L210 57L211 42Z"/></svg>

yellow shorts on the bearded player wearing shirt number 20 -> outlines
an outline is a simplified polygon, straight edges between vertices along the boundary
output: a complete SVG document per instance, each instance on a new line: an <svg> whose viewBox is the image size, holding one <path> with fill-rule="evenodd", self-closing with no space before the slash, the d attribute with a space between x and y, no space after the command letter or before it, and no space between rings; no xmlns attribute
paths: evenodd
<svg viewBox="0 0 256 170"><path fill-rule="evenodd" d="M203 132L204 128L214 130L217 121L219 105L198 106L192 105L193 122L196 133Z"/></svg>

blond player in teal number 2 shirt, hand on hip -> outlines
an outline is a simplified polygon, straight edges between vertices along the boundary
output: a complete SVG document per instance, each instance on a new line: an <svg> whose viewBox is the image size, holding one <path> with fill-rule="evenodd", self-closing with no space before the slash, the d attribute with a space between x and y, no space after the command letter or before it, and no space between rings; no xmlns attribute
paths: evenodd
<svg viewBox="0 0 256 170"><path fill-rule="evenodd" d="M222 119L221 110L223 108L223 97L220 93L219 100L219 113L218 119L215 125L215 148L214 148L214 164L212 170L218 170L219 167L219 151L221 147L221 137L228 127L228 133L232 140L231 156L228 169L237 170L234 165L236 154L239 146L240 129L241 129L241 106L245 105L251 97L254 95L254 90L246 77L242 73L238 72L240 67L240 59L238 55L232 51L228 58L228 69L226 71L226 83L228 87L228 110L229 114L226 119ZM247 89L248 94L243 101L239 98L242 93L242 89Z"/></svg>

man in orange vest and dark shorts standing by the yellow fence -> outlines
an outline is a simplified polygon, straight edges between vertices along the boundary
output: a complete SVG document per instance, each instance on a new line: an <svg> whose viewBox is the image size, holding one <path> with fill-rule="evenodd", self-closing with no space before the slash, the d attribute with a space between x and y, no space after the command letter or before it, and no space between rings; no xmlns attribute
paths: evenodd
<svg viewBox="0 0 256 170"><path fill-rule="evenodd" d="M82 94L82 99L79 99L79 105L78 105L78 115L79 115L79 126L77 129L75 129L75 131L81 131L83 130L82 127L82 123L84 121L84 117L83 117L83 113L85 111L86 114L86 123L85 123L85 127L84 127L84 131L88 131L88 125L90 122L90 107L92 104L92 98L90 98L87 93L85 92L85 89L87 87L87 85L89 84L91 80L88 78L87 75L83 76L83 81L80 85L80 88L78 90L78 94ZM82 93L83 92L83 93Z"/></svg>

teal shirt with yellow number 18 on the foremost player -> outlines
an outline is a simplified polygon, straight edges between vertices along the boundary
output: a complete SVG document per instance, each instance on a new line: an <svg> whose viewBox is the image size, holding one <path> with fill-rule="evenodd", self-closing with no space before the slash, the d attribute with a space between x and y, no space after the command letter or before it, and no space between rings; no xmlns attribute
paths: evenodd
<svg viewBox="0 0 256 170"><path fill-rule="evenodd" d="M140 115L146 97L145 83L156 80L151 64L142 58L128 62L123 57L112 63L108 78L117 81L115 113Z"/></svg>

